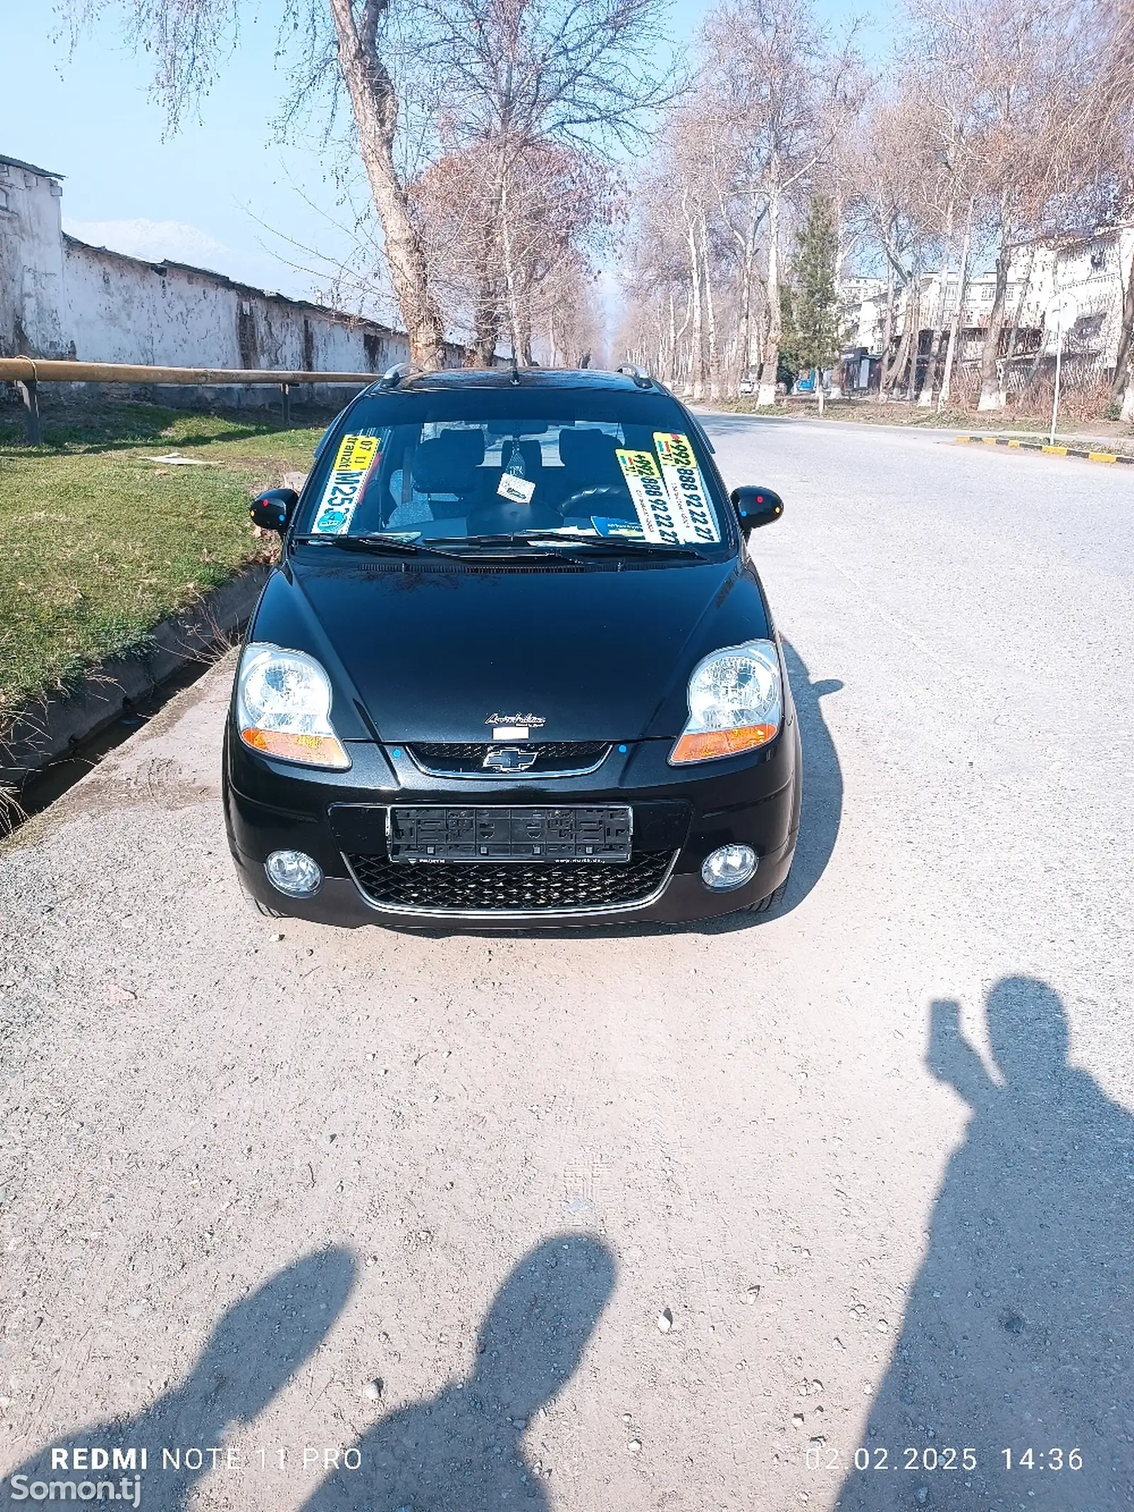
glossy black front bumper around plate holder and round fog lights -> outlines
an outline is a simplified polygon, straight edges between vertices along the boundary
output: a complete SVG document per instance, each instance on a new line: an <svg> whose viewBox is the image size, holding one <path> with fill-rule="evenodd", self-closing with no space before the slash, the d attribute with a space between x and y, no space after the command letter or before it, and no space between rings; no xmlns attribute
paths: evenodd
<svg viewBox="0 0 1134 1512"><path fill-rule="evenodd" d="M429 930L692 922L767 898L786 878L795 850L800 739L794 711L765 750L686 768L668 765L668 739L632 742L624 753L612 745L597 770L576 777L529 779L431 776L404 747L357 741L348 748L349 771L307 771L248 750L230 721L224 756L228 842L246 891L280 913L345 927ZM532 883L546 883L549 868L558 866L555 881L562 881L562 868L572 866L569 880L578 886L565 889L564 903L562 888L525 891L514 885L519 874L505 875L499 866L442 863L460 866L461 886L451 889L429 863L389 862L392 804L629 804L631 868L640 883L618 863L549 862L528 869ZM759 865L745 886L714 892L702 881L702 862L727 844L751 845ZM313 898L287 898L272 888L263 863L274 850L302 850L319 862L324 883ZM384 888L383 877L405 883L407 868L429 886ZM514 886L485 888L485 897L476 897L470 883L476 874L485 883L503 877Z"/></svg>

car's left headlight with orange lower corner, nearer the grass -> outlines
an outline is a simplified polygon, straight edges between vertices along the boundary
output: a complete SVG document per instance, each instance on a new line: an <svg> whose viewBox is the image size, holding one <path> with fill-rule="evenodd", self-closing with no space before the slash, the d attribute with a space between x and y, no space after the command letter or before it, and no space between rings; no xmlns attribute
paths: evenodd
<svg viewBox="0 0 1134 1512"><path fill-rule="evenodd" d="M236 680L236 727L265 756L343 771L351 758L331 729L331 682L313 656L245 647Z"/></svg>

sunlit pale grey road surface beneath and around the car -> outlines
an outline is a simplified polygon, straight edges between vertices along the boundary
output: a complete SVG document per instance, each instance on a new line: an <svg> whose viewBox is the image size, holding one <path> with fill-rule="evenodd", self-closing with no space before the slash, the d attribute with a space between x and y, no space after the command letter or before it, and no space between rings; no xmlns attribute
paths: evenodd
<svg viewBox="0 0 1134 1512"><path fill-rule="evenodd" d="M169 1512L1134 1504L1134 478L708 426L786 499L777 915L259 919L230 667L0 851L24 1485L145 1444Z"/></svg>

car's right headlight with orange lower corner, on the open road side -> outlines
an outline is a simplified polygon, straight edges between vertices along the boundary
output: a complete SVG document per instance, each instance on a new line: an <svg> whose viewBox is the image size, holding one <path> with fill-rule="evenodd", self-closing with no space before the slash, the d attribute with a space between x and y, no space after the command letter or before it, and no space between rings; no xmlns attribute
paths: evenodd
<svg viewBox="0 0 1134 1512"><path fill-rule="evenodd" d="M767 745L780 729L783 688L773 641L712 652L689 677L689 718L670 765L738 756Z"/></svg>

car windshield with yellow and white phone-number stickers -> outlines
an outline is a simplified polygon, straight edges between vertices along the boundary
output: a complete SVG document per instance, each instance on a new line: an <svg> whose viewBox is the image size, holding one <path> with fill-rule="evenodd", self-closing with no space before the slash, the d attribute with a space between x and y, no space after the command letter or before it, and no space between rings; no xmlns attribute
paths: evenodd
<svg viewBox="0 0 1134 1512"><path fill-rule="evenodd" d="M606 541L688 559L730 549L726 511L702 435L665 395L438 387L351 407L295 534L458 550Z"/></svg>

